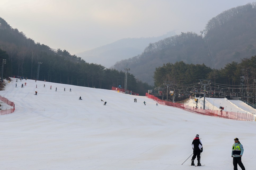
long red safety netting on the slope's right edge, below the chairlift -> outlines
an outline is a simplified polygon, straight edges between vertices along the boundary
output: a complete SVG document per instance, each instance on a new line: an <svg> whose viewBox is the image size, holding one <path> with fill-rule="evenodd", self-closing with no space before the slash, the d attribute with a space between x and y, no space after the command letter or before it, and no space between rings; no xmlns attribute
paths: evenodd
<svg viewBox="0 0 256 170"><path fill-rule="evenodd" d="M219 111L219 110L210 110L210 109L199 109L192 106L187 106L181 103L173 103L169 101L161 100L153 95L149 95L146 93L148 98L155 100L157 103L165 106L172 106L177 107L188 112L193 112L196 114L206 115L206 116L213 116L213 117L220 117L232 120L243 120L243 121L254 121L255 117L254 114L251 113L239 113L239 112L229 112L229 111ZM256 120L255 120L256 121Z"/></svg>

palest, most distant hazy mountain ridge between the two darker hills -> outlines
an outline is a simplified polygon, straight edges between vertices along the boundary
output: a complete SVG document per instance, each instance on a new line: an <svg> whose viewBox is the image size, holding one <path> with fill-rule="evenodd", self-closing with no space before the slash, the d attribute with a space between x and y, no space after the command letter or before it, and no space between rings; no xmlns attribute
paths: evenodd
<svg viewBox="0 0 256 170"><path fill-rule="evenodd" d="M149 43L154 43L173 35L175 35L175 32L170 31L158 37L124 38L76 55L88 63L97 63L109 68L117 61L128 59L142 53Z"/></svg>

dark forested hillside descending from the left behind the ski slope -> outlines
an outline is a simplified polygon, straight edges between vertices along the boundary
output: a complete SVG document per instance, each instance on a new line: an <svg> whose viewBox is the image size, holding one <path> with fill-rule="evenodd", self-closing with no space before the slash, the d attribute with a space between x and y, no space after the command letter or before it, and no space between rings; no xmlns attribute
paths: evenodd
<svg viewBox="0 0 256 170"><path fill-rule="evenodd" d="M125 72L87 63L67 50L55 50L35 43L0 18L0 61L2 59L6 59L3 77L36 79L38 62L41 62L39 80L103 89L119 85L124 87ZM147 83L136 81L134 75L129 73L127 82L129 90L141 95L145 95L149 88Z"/></svg>

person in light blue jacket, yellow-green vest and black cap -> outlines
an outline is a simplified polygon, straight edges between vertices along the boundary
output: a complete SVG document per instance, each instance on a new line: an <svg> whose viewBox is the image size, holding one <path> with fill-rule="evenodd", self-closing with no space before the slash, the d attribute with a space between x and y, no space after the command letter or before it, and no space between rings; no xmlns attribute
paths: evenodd
<svg viewBox="0 0 256 170"><path fill-rule="evenodd" d="M238 140L238 138L234 139L235 143L232 145L231 157L233 158L233 166L234 170L237 170L237 164L240 166L242 170L245 170L244 164L242 163L241 157L244 153L244 147Z"/></svg>

